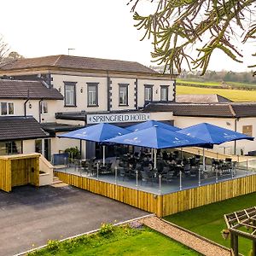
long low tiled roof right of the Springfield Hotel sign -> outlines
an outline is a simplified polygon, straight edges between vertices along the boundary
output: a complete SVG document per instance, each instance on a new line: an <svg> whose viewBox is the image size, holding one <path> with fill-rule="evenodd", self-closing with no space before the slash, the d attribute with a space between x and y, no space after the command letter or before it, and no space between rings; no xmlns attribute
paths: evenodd
<svg viewBox="0 0 256 256"><path fill-rule="evenodd" d="M150 103L143 111L173 112L176 116L203 116L221 118L256 117L256 102L226 103Z"/></svg>

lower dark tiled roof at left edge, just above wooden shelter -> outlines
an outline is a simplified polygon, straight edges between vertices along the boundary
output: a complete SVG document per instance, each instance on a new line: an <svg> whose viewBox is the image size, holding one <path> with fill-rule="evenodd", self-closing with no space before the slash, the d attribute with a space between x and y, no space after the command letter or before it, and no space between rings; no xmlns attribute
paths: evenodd
<svg viewBox="0 0 256 256"><path fill-rule="evenodd" d="M0 141L48 137L41 125L31 116L0 117Z"/></svg>

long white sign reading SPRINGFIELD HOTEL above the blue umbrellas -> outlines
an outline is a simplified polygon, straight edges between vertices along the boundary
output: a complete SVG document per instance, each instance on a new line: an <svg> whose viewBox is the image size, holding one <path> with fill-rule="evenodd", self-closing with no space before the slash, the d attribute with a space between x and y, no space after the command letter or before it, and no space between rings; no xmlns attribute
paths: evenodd
<svg viewBox="0 0 256 256"><path fill-rule="evenodd" d="M150 113L100 113L87 114L87 124L128 123L150 120Z"/></svg>

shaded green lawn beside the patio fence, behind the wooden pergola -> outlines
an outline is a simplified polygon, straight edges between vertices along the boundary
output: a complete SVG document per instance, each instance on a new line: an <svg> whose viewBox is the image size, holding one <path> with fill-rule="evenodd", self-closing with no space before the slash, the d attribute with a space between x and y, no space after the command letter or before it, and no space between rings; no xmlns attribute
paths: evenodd
<svg viewBox="0 0 256 256"><path fill-rule="evenodd" d="M256 205L256 193L241 195L226 201L212 203L186 212L179 212L166 217L166 220L178 224L225 247L230 247L230 240L225 241L220 232L226 228L224 214L236 212ZM240 253L247 255L252 242L239 238Z"/></svg>

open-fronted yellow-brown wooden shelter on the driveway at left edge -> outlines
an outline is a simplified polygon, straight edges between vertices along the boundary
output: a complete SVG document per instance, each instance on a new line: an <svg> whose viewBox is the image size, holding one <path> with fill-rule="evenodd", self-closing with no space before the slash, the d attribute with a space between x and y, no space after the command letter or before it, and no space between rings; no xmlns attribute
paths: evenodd
<svg viewBox="0 0 256 256"><path fill-rule="evenodd" d="M37 153L0 156L0 189L10 192L15 186L39 186L39 157Z"/></svg>

